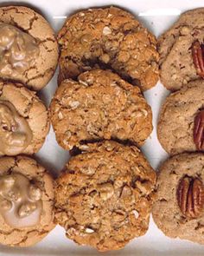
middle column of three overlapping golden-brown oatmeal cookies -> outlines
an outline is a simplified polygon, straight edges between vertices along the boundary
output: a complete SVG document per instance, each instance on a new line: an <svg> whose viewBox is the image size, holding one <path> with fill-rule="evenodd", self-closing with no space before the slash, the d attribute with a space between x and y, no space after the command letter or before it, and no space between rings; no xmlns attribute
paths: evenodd
<svg viewBox="0 0 204 256"><path fill-rule="evenodd" d="M111 7L68 17L58 42L51 120L61 147L76 150L56 181L55 217L80 245L120 249L149 226L156 173L137 146L152 131L141 90L158 80L156 38Z"/></svg>

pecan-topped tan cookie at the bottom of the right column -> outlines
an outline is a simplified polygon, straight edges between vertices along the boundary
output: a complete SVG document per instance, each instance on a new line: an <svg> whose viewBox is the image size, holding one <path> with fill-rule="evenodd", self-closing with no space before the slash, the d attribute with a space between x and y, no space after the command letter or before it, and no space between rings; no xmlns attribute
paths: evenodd
<svg viewBox="0 0 204 256"><path fill-rule="evenodd" d="M204 244L204 154L180 154L160 168L152 214L171 238Z"/></svg>

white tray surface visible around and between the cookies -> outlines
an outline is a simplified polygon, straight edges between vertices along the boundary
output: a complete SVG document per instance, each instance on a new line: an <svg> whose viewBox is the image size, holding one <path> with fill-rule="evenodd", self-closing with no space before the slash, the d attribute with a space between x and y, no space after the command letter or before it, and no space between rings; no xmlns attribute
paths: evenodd
<svg viewBox="0 0 204 256"><path fill-rule="evenodd" d="M1 1L1 4L18 3L33 6L47 17L48 21L57 31L61 28L65 20L65 16L76 12L77 10L105 6L116 5L124 9L131 10L138 16L156 36L159 36L164 30L167 30L171 24L175 22L181 12L188 9L204 6L203 0L33 0L33 1ZM29 5L29 3L32 3ZM57 72L56 72L57 73ZM56 74L46 89L41 91L41 99L46 102L47 106L51 100L54 90L56 89ZM154 131L150 139L143 146L143 153L146 154L152 167L157 168L167 154L163 151L156 138L156 120L158 117L161 102L168 95L168 91L158 82L154 89L150 89L145 93L147 101L153 109L153 125ZM49 171L56 175L64 166L68 159L68 153L57 145L54 139L54 132L51 129L46 143L36 158ZM0 246L0 256L5 255L101 255L96 250L87 246L77 246L71 240L65 238L63 228L57 226L48 237L41 241L37 246L30 248L10 248ZM105 253L105 255L117 256L200 256L204 255L204 246L199 246L184 240L171 240L163 235L156 228L153 221L150 221L150 229L143 237L133 240L123 250L117 252Z"/></svg>

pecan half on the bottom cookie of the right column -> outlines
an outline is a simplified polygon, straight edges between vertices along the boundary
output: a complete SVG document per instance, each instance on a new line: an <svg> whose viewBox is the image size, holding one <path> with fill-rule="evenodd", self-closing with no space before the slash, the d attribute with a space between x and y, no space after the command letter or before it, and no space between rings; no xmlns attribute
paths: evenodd
<svg viewBox="0 0 204 256"><path fill-rule="evenodd" d="M197 218L204 206L204 186L198 178L185 176L177 188L177 201L182 214Z"/></svg>

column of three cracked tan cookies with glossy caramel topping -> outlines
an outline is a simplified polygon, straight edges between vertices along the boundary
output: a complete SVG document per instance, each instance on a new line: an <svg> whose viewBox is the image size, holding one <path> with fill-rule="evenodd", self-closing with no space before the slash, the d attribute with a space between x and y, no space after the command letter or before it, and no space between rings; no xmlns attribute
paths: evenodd
<svg viewBox="0 0 204 256"><path fill-rule="evenodd" d="M58 44L34 10L2 7L0 17L0 243L31 246L55 226L53 180L19 154L38 152L48 135L48 109L34 90L54 75Z"/></svg>

